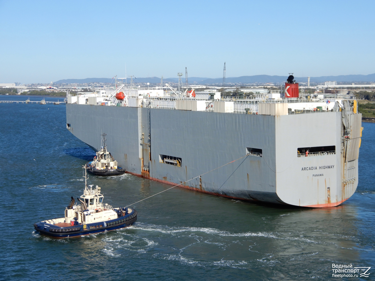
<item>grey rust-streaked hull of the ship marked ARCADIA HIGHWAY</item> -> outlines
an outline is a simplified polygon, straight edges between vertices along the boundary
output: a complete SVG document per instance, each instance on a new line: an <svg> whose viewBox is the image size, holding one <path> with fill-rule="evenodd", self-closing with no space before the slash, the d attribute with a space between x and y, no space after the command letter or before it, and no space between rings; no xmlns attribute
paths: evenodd
<svg viewBox="0 0 375 281"><path fill-rule="evenodd" d="M68 103L66 123L95 151L101 132L107 133L108 150L121 167L167 184L243 157L181 185L218 196L327 207L357 188L359 146L349 166L341 112L270 116ZM297 148L319 145L335 145L336 154L297 157ZM262 149L262 157L246 156L247 148ZM165 155L180 158L181 166L160 163Z"/></svg>

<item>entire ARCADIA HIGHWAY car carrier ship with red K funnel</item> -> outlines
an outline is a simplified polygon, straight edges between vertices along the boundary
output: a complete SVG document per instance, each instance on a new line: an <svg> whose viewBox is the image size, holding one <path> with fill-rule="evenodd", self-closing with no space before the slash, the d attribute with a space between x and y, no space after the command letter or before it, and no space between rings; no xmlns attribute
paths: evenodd
<svg viewBox="0 0 375 281"><path fill-rule="evenodd" d="M337 206L357 188L363 129L357 101L300 97L293 78L285 97L169 94L117 81L67 96L67 129L95 151L106 132L111 153L133 175L305 207Z"/></svg>

